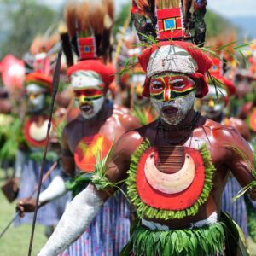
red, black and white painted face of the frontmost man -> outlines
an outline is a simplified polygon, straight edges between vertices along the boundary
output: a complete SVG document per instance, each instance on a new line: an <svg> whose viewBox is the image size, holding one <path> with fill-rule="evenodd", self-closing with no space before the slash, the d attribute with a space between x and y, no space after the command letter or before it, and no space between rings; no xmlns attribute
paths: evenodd
<svg viewBox="0 0 256 256"><path fill-rule="evenodd" d="M150 82L150 99L169 125L185 119L195 102L195 83L185 75L155 76Z"/></svg>

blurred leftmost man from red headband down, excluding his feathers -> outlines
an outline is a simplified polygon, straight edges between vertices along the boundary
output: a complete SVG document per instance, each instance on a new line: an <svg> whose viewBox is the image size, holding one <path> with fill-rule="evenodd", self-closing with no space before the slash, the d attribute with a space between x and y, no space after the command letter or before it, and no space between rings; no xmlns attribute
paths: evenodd
<svg viewBox="0 0 256 256"><path fill-rule="evenodd" d="M41 160L46 143L46 131L48 126L48 108L51 93L52 79L43 73L29 73L26 75L26 104L27 113L23 127L23 139L20 138L19 150L15 161L15 181L20 187L18 199L33 196L38 185L41 169ZM52 124L50 142L53 137ZM49 154L44 170L44 174L53 166L58 159L53 148L49 148ZM46 189L49 183L61 172L60 168L55 168L54 172L49 172L49 177L43 183ZM42 207L38 212L38 223L45 226L54 226L61 217L67 198L50 203ZM20 213L22 215L22 212ZM16 218L15 224L32 223L32 213L26 214L25 218Z"/></svg>

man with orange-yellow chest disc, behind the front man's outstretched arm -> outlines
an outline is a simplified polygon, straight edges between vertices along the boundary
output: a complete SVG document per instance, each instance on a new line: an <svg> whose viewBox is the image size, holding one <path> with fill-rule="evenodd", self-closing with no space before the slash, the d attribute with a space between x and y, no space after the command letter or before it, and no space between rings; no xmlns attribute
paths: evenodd
<svg viewBox="0 0 256 256"><path fill-rule="evenodd" d="M115 73L113 67L103 61L108 60L109 56L113 3L102 0L68 4L66 20L69 36L79 50L79 61L68 68L67 74L80 113L66 125L61 139L63 171L73 180L65 185L67 178L63 175L56 177L49 188L41 193L40 204L63 195L67 189L72 189L74 195L79 193L89 183L83 177L95 171L94 155L99 152L105 157L113 147L114 140L118 140L125 131L139 126L128 109L114 105L107 97ZM81 178L83 180L79 182ZM31 200L20 202L19 207L26 211L26 208L31 210L34 206L35 201ZM131 207L119 192L106 202L79 240L70 244L61 255L117 256L129 240L130 223Z"/></svg>

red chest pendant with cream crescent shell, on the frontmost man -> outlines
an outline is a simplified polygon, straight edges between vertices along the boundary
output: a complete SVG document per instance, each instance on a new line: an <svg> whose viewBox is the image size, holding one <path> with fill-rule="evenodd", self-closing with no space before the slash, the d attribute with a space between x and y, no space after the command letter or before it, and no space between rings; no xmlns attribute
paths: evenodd
<svg viewBox="0 0 256 256"><path fill-rule="evenodd" d="M201 196L204 183L204 163L195 148L150 147L137 163L137 193L149 207L187 209Z"/></svg>

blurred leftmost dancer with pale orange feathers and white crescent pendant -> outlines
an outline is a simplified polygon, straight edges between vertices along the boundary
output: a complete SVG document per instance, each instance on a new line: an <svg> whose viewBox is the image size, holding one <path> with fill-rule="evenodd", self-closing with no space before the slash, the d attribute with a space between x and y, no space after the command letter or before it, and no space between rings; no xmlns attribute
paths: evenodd
<svg viewBox="0 0 256 256"><path fill-rule="evenodd" d="M26 63L26 116L22 124L22 136L19 150L16 154L15 181L20 180L18 199L34 196L37 189L41 161L43 159L48 125L49 102L52 92L51 74L54 70L55 53L60 48L59 36L49 32L36 37L31 45L30 53L25 56ZM61 172L58 162L59 144L55 138L57 122L52 122L50 132L50 148L47 154L43 183L46 189L49 183ZM55 166L53 168L52 166ZM50 171L51 170L51 171ZM38 212L38 224L44 224L49 229L46 236L53 230L53 226L64 212L68 196L42 207ZM20 214L22 216L22 213ZM26 214L24 218L16 218L15 225L32 223L33 214Z"/></svg>

